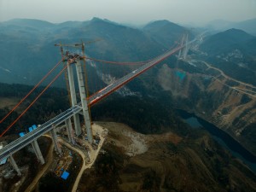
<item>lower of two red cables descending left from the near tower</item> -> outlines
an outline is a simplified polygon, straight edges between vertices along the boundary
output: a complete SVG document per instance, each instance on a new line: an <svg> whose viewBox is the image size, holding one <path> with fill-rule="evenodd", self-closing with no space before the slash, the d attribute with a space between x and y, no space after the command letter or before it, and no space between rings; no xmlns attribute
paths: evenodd
<svg viewBox="0 0 256 192"><path fill-rule="evenodd" d="M69 65L69 63L68 63L67 65ZM22 113L20 113L20 116L19 116L17 119L15 119L15 121L14 121L11 125L9 125L9 127L7 127L7 128L3 131L3 133L1 133L0 137L3 137L3 135L4 135L7 131L9 131L9 129L10 129L13 125L15 125L15 123L23 116L23 114L26 113L26 111L27 111L29 108L32 107L32 105L38 100L38 98L39 98L40 96L43 95L44 91L47 90L47 89L49 88L49 86L50 86L51 84L53 84L53 83L55 82L55 80L58 79L58 78L61 76L61 73L63 73L66 68L67 68L67 66L65 66L65 67L63 67L63 69L61 69L61 72L58 73L58 74L55 76L55 78L52 79L52 81L44 88L44 90L42 90L42 91L39 93L39 95L30 103L30 105L29 105Z"/></svg>

